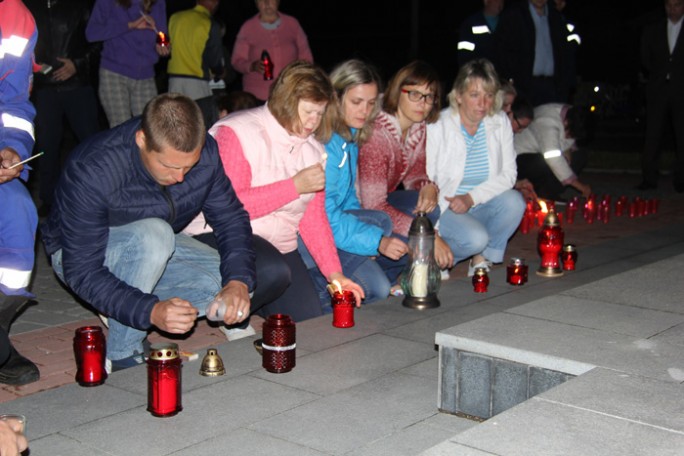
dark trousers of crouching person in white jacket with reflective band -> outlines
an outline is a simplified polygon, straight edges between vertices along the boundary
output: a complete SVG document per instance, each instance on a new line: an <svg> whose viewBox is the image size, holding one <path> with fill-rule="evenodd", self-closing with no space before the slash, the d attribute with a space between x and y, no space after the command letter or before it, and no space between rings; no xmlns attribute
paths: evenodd
<svg viewBox="0 0 684 456"><path fill-rule="evenodd" d="M570 168L579 175L589 161L585 149L578 149L572 153ZM518 165L518 179L528 179L534 186L534 191L540 198L557 201L565 186L556 178L546 163L542 154L520 154L516 158Z"/></svg>

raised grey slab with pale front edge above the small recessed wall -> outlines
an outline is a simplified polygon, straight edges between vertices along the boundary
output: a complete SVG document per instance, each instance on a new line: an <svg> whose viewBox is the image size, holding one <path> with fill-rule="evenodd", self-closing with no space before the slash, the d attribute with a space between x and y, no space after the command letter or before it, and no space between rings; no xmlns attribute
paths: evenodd
<svg viewBox="0 0 684 456"><path fill-rule="evenodd" d="M670 369L684 370L674 345L503 312L437 333L436 342L572 375L601 366L672 382L681 380Z"/></svg>

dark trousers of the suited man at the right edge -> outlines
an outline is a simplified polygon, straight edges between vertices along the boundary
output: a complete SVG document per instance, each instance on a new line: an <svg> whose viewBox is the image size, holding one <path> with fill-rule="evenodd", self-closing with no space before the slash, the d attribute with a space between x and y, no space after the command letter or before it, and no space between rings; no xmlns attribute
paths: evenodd
<svg viewBox="0 0 684 456"><path fill-rule="evenodd" d="M684 186L684 99L681 88L666 83L651 90L646 101L646 140L641 156L641 170L646 184L658 183L658 160L663 138L669 127L675 137L675 168L673 183Z"/></svg>

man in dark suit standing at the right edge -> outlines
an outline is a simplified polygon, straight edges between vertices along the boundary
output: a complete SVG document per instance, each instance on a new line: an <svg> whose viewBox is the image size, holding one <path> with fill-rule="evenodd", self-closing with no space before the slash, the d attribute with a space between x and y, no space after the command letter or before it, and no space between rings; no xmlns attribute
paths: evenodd
<svg viewBox="0 0 684 456"><path fill-rule="evenodd" d="M644 30L641 60L648 75L646 86L646 141L642 155L640 190L656 188L658 158L665 130L675 136L673 184L684 192L684 0L665 0L667 18Z"/></svg>

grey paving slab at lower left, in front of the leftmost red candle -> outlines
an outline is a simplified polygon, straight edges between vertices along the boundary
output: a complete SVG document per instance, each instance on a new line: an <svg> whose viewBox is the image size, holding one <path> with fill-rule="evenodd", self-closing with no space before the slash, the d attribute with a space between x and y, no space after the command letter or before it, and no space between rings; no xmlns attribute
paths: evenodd
<svg viewBox="0 0 684 456"><path fill-rule="evenodd" d="M83 388L76 384L3 404L3 413L25 415L29 437L41 438L139 406L146 397L113 388L107 384Z"/></svg>

